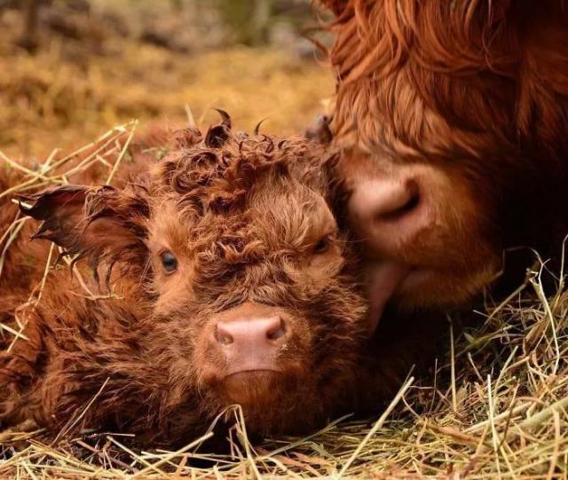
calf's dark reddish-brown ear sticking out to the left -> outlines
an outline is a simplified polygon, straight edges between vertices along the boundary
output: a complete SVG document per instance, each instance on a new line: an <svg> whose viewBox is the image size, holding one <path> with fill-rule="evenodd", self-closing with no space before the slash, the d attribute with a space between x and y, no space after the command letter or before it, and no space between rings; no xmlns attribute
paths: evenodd
<svg viewBox="0 0 568 480"><path fill-rule="evenodd" d="M122 190L64 185L21 196L20 210L42 222L33 239L51 240L76 260L86 258L95 275L105 262L108 277L116 262L135 266L146 261L145 193L138 185Z"/></svg>

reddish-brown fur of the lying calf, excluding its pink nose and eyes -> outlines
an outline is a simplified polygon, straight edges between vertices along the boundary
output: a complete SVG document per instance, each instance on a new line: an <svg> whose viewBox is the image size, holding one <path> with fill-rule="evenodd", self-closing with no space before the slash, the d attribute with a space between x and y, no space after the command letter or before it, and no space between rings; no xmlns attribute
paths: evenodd
<svg viewBox="0 0 568 480"><path fill-rule="evenodd" d="M53 432L120 429L176 444L235 397L253 433L312 429L377 405L412 359L396 342L367 338L357 256L329 208L328 163L312 142L233 136L225 122L205 138L178 132L164 160L121 188L31 195L23 211L43 220L36 237L85 257L100 278L98 286L84 275L91 291L107 284L118 296L95 300L69 271L50 275L41 302L20 314L28 341L8 352L4 337L2 424L33 418ZM322 238L328 247L314 251ZM39 243L14 251L5 282ZM164 249L177 256L170 275ZM25 297L30 277L18 285ZM209 331L239 304L278 309L294 335L280 374L234 387L218 376L226 366ZM0 312L17 328L12 309ZM414 340L406 339L413 354Z"/></svg>

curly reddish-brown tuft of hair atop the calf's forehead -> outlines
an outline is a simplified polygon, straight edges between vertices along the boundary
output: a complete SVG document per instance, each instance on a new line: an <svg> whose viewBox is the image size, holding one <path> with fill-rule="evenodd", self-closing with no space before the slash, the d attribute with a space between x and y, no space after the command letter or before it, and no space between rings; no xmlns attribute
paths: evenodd
<svg viewBox="0 0 568 480"><path fill-rule="evenodd" d="M304 185L326 190L322 177L328 154L321 146L304 138L274 138L231 132L231 120L209 129L204 138L197 130L180 130L175 152L163 161L159 174L163 186L181 194L180 203L199 213L212 210L228 213L242 209L247 193L259 177L293 176ZM222 147L222 148L221 148Z"/></svg>

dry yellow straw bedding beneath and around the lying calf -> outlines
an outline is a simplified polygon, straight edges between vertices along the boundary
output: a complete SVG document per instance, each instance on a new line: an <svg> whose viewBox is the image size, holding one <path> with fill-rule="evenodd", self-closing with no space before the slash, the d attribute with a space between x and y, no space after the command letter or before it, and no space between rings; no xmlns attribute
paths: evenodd
<svg viewBox="0 0 568 480"><path fill-rule="evenodd" d="M135 128L136 122L117 127L85 146L81 151L91 154L74 169L101 162L112 178ZM68 172L59 172L77 153L54 153L35 170L23 169L25 180L0 195L66 183ZM22 169L1 158L2 168ZM3 248L20 224L0 232ZM568 478L568 293L564 269L553 291L545 292L545 276L555 278L537 258L506 302L467 318L448 316L447 348L431 376L409 376L377 418L337 419L310 437L250 445L235 407L231 453L224 455L201 450L210 434L176 452L152 445L133 452L112 433L51 445L41 430L23 425L0 433L0 478ZM41 291L40 284L29 301L41 301Z"/></svg>

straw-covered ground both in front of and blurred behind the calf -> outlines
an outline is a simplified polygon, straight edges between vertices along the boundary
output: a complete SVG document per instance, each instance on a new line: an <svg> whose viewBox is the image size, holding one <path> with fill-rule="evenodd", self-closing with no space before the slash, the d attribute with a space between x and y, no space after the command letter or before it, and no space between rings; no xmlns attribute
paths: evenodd
<svg viewBox="0 0 568 480"><path fill-rule="evenodd" d="M197 53L111 36L93 53L92 39L51 40L32 55L0 37L3 168L56 148L59 158L132 118L140 129L183 123L186 105L201 124L220 106L243 130L268 117L263 128L288 134L333 94L325 65L273 45ZM45 445L22 428L0 433L0 478L567 478L568 294L563 275L544 291L540 264L533 270L508 302L448 317L431 375L409 377L377 418L262 445L239 423L232 453L218 457L200 451L202 438L177 452L131 452L110 434ZM203 458L217 466L191 466Z"/></svg>

